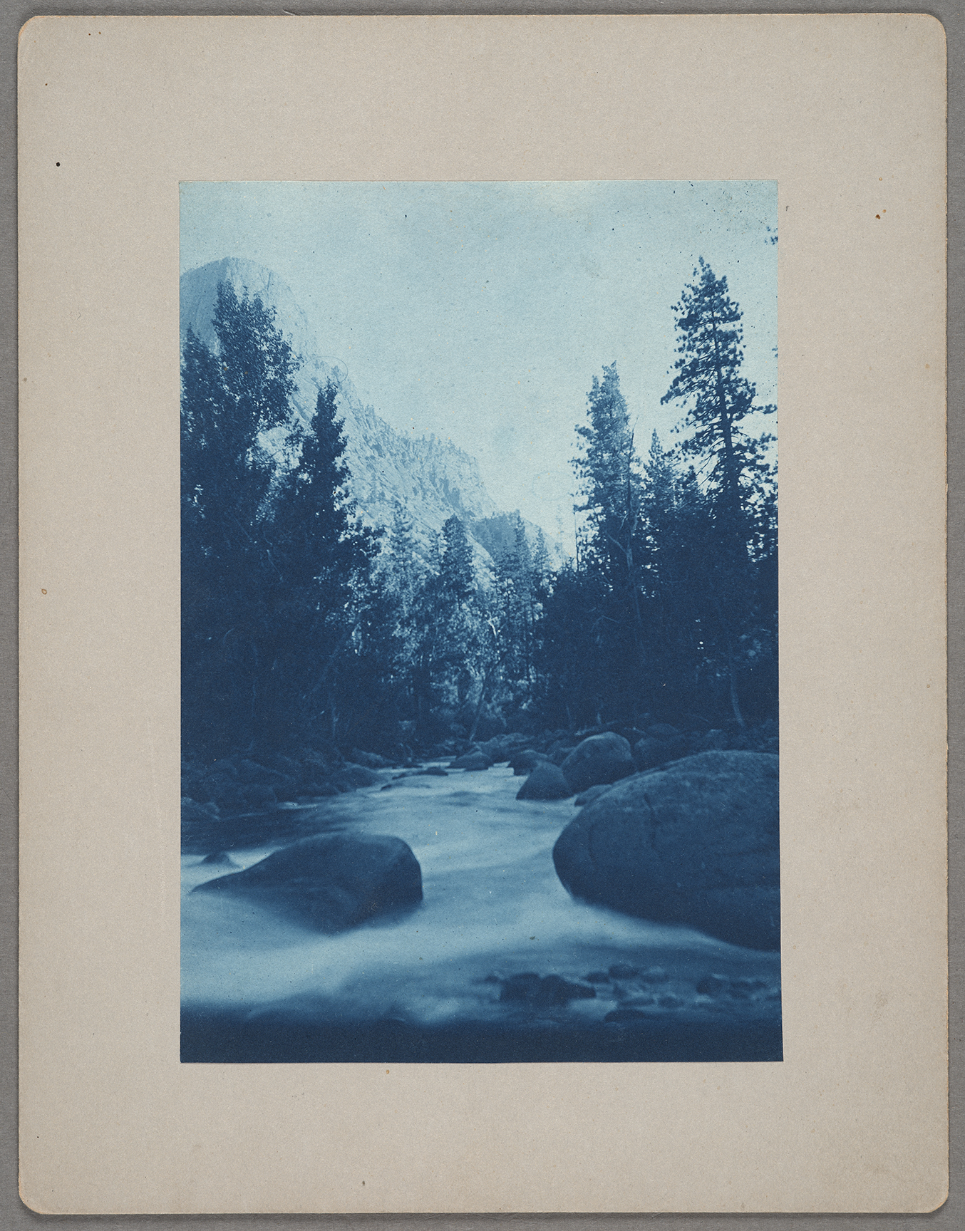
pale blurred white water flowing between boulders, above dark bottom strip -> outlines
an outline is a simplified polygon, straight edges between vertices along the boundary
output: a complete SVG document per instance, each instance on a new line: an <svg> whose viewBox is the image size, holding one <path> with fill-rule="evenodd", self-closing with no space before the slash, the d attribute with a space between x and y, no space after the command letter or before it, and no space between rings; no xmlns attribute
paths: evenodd
<svg viewBox="0 0 965 1231"><path fill-rule="evenodd" d="M710 972L762 980L767 988L750 1000L758 1011L774 1012L777 954L734 948L570 897L551 851L576 809L572 800L517 801L522 782L506 766L453 771L446 778L406 777L390 790L356 792L306 812L319 830L400 837L422 868L421 906L337 936L319 934L240 897L192 894L202 881L234 869L186 856L182 1002L257 1011L287 1001L293 1012L302 1004L324 1016L496 1020L518 1009L500 1004L501 985L486 981L489 975L537 971L582 980L624 963L640 977L597 984L596 998L542 1009L540 1016L595 1022L622 1006L659 1016L753 1012L750 1002L698 995L695 984ZM239 868L250 867L272 849L233 852L231 858Z"/></svg>

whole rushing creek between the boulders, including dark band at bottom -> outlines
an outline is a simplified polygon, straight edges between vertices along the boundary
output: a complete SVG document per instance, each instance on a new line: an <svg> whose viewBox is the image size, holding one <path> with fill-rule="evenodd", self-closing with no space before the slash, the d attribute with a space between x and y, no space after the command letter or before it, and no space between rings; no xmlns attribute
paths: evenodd
<svg viewBox="0 0 965 1231"><path fill-rule="evenodd" d="M518 801L522 782L412 774L299 809L302 833L394 835L422 869L420 906L335 936L191 892L279 843L185 856L182 1059L780 1059L779 955L572 899L551 851L574 803ZM507 995L527 972L585 996Z"/></svg>

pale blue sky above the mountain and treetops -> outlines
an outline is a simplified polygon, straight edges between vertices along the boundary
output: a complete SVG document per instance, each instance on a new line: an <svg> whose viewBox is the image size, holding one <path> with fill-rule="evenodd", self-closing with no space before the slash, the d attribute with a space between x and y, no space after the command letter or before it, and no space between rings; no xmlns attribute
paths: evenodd
<svg viewBox="0 0 965 1231"><path fill-rule="evenodd" d="M571 548L575 425L603 364L646 455L683 406L672 305L698 257L743 311L743 375L777 403L777 182L181 186L181 272L225 256L292 288L363 401L479 459L496 505ZM774 431L775 416L747 421Z"/></svg>

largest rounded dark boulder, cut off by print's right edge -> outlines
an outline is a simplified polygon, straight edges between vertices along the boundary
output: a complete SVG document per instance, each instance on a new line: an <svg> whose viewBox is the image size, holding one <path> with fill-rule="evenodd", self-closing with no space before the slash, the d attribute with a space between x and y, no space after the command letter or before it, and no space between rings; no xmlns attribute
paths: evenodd
<svg viewBox="0 0 965 1231"><path fill-rule="evenodd" d="M576 897L778 949L778 758L702 752L636 774L581 810L553 862Z"/></svg>

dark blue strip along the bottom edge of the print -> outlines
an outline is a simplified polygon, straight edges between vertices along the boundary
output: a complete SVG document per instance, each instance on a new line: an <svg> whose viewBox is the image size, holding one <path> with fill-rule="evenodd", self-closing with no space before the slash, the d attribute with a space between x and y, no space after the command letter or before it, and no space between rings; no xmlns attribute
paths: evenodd
<svg viewBox="0 0 965 1231"><path fill-rule="evenodd" d="M444 1027L399 1020L319 1022L224 1011L181 1014L182 1064L559 1064L783 1060L780 1019L741 1023L641 1018L595 1027Z"/></svg>

